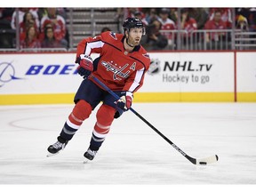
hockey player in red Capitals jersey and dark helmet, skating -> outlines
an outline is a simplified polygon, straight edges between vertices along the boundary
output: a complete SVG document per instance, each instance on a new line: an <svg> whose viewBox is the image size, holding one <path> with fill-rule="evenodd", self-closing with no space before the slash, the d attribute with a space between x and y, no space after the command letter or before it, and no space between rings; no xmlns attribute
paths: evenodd
<svg viewBox="0 0 256 192"><path fill-rule="evenodd" d="M133 93L143 84L150 59L140 45L141 36L145 33L141 20L127 18L124 20L123 28L124 34L103 32L100 36L86 38L78 44L77 72L84 76L84 81L76 92L76 105L68 116L57 138L58 141L48 148L48 156L55 155L66 147L84 120L102 101L96 114L97 122L94 125L90 146L84 153L86 159L92 160L105 140L114 118L121 116L132 106ZM92 61L92 52L100 53L100 57ZM119 95L120 100L116 100L100 87L91 74Z"/></svg>

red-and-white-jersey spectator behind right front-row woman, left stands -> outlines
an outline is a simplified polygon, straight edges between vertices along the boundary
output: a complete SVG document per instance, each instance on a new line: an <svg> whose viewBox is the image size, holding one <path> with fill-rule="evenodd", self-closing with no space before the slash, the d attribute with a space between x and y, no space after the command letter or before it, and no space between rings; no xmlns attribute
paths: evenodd
<svg viewBox="0 0 256 192"><path fill-rule="evenodd" d="M56 8L47 8L47 15L41 20L41 31L44 31L46 27L52 27L55 39L60 41L60 44L66 44L68 47L68 40L65 39L67 32L66 21L62 16L57 14Z"/></svg>

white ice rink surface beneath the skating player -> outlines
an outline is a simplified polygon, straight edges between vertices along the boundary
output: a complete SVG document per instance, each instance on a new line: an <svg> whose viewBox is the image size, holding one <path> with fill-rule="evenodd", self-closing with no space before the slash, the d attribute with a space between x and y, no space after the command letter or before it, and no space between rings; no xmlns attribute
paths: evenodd
<svg viewBox="0 0 256 192"><path fill-rule="evenodd" d="M132 107L188 156L126 112L95 159L83 164L95 123L87 119L67 148L46 157L73 105L0 107L0 184L256 184L256 103L134 103Z"/></svg>

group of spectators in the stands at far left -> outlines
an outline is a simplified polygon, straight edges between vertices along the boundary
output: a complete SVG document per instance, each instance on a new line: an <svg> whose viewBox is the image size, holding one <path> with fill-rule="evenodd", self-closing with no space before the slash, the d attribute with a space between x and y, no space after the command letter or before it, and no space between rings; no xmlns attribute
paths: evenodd
<svg viewBox="0 0 256 192"><path fill-rule="evenodd" d="M16 29L15 9L2 8L0 12L0 26ZM19 8L18 17L21 49L68 48L65 9Z"/></svg>

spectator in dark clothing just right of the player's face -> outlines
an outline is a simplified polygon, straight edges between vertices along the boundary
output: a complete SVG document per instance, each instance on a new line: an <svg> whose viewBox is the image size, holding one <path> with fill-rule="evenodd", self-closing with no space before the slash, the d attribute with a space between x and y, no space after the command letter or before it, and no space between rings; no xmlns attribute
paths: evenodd
<svg viewBox="0 0 256 192"><path fill-rule="evenodd" d="M146 36L141 39L141 44L147 50L163 50L168 44L166 36L160 33L162 24L159 20L153 20L146 28Z"/></svg>

